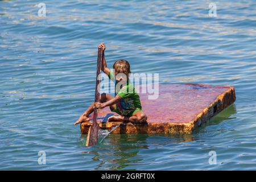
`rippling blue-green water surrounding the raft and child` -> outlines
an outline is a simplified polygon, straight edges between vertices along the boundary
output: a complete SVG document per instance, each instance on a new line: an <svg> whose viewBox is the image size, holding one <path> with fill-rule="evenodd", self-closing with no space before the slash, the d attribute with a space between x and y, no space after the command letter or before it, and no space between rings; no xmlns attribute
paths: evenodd
<svg viewBox="0 0 256 182"><path fill-rule="evenodd" d="M0 1L0 169L256 169L256 2ZM232 85L235 104L189 135L113 135L85 147L97 45L160 83ZM46 164L38 164L38 152ZM209 164L209 152L217 164Z"/></svg>

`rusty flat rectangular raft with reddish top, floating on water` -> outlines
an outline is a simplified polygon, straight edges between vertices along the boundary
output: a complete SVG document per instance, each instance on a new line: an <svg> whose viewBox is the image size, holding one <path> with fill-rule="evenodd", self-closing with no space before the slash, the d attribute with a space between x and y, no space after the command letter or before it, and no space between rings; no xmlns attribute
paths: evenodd
<svg viewBox="0 0 256 182"><path fill-rule="evenodd" d="M159 97L148 100L137 88L142 109L148 116L147 123L125 123L113 133L191 133L195 127L209 121L236 100L233 86L210 86L203 84L160 84ZM111 130L120 122L106 122L113 115L109 108L99 111L101 129ZM115 114L117 115L117 114ZM91 122L81 123L81 133L87 134Z"/></svg>

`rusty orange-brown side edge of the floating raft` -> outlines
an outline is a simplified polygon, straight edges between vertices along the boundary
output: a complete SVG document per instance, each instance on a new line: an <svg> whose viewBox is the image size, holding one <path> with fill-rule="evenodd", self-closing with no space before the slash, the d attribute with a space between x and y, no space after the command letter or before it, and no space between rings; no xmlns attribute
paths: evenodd
<svg viewBox="0 0 256 182"><path fill-rule="evenodd" d="M154 123L124 123L124 122L107 122L100 123L101 129L111 130L113 126L123 124L113 131L114 134L191 134L197 126L209 121L212 117L220 113L226 107L232 105L236 101L236 91L234 86L226 85L221 86L229 88L222 92L216 99L208 106L205 107L199 114L196 115L192 121L186 123L171 123L171 122L154 122ZM81 134L88 134L89 122L81 123ZM105 126L102 126L105 125ZM141 126L139 126L141 125Z"/></svg>

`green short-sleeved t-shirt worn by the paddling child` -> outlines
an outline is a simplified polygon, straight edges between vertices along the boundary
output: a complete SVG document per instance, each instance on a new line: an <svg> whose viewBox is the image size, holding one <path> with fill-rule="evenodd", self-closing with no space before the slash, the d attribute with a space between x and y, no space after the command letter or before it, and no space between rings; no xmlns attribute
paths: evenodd
<svg viewBox="0 0 256 182"><path fill-rule="evenodd" d="M117 82L115 81L114 73L110 71L108 76L110 80L115 82L116 86ZM118 93L115 94L121 97L121 100L116 104L117 109L121 114L128 115L135 109L142 109L141 101L139 100L139 95L129 79L127 81L127 84L123 86Z"/></svg>

